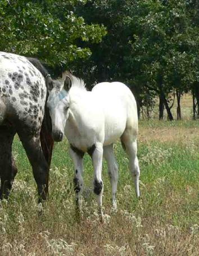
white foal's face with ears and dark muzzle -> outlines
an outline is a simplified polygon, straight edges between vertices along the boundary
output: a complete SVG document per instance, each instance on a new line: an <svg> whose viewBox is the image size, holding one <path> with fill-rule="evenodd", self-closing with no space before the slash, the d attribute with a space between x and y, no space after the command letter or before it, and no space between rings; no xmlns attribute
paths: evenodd
<svg viewBox="0 0 199 256"><path fill-rule="evenodd" d="M47 107L51 116L52 136L55 141L62 141L66 120L69 117L70 98L68 91L71 87L71 80L69 79L66 77L64 86L53 81L50 77L46 79L49 91Z"/></svg>

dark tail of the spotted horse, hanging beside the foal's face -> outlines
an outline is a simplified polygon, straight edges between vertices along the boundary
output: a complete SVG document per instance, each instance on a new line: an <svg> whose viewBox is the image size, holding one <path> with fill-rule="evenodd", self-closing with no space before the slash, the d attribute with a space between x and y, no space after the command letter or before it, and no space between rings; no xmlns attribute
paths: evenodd
<svg viewBox="0 0 199 256"><path fill-rule="evenodd" d="M43 77L46 78L46 76L49 73L44 68L44 66L40 63L40 61L34 58L27 58L27 59L31 62L31 64L35 66L35 68L37 68L40 71L40 73L42 73ZM47 99L48 99L48 92L46 95L46 102L47 102ZM45 111L44 111L42 128L40 130L40 143L42 146L43 154L48 163L48 167L50 167L54 141L52 138L51 116L49 115L49 110L46 106L46 103L45 103Z"/></svg>

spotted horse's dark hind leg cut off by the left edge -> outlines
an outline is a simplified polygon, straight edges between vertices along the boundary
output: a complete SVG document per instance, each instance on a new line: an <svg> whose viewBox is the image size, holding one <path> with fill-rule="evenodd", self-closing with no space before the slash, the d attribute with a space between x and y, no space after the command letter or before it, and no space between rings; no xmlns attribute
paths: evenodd
<svg viewBox="0 0 199 256"><path fill-rule="evenodd" d="M12 188L12 182L17 173L15 162L12 158L12 141L15 129L8 126L0 127L0 198L7 199Z"/></svg>

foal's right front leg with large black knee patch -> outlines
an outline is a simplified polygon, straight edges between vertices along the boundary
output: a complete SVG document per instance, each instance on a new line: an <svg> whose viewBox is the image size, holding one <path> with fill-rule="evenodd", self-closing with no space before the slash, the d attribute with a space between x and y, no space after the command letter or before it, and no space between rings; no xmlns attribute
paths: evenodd
<svg viewBox="0 0 199 256"><path fill-rule="evenodd" d="M100 209L100 215L102 217L102 194L103 194L103 182L102 182L102 158L103 158L103 145L102 143L96 143L92 147L92 161L94 168L94 193L97 195L97 203Z"/></svg>

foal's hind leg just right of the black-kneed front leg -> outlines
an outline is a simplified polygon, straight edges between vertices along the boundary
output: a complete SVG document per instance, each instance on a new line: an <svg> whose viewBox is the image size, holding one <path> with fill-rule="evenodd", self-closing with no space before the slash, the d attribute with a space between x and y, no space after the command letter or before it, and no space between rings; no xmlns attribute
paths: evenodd
<svg viewBox="0 0 199 256"><path fill-rule="evenodd" d="M103 156L107 161L108 175L111 182L112 190L112 206L114 209L117 208L116 192L117 192L117 180L118 180L118 167L115 160L113 145L103 147Z"/></svg>

